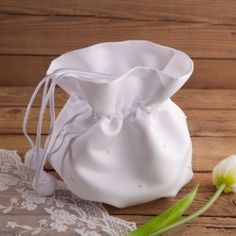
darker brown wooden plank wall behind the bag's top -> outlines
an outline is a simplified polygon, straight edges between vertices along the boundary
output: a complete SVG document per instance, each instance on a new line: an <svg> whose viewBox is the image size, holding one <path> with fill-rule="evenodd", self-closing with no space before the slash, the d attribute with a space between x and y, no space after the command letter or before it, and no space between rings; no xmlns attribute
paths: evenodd
<svg viewBox="0 0 236 236"><path fill-rule="evenodd" d="M146 39L194 59L185 87L236 88L235 12L234 0L0 0L0 85L35 86L69 50Z"/></svg>

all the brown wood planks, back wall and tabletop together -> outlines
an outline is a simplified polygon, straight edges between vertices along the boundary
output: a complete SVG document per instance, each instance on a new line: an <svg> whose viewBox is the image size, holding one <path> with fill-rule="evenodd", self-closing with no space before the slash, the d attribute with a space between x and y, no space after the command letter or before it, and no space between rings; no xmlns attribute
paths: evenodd
<svg viewBox="0 0 236 236"><path fill-rule="evenodd" d="M197 199L188 211L192 212L214 192L214 165L236 153L235 13L234 0L0 0L1 147L16 149L22 157L29 148L21 131L25 106L33 87L59 54L126 39L151 40L184 50L193 58L195 70L173 100L188 116L195 177L177 199L200 182ZM66 98L57 92L57 112ZM39 100L30 117L32 135L38 109ZM48 117L45 124L44 139ZM49 164L45 168L56 175ZM107 208L117 217L142 224L177 199L122 210ZM204 216L167 235L206 234L236 235L235 195L223 195ZM6 235L1 226L0 235Z"/></svg>

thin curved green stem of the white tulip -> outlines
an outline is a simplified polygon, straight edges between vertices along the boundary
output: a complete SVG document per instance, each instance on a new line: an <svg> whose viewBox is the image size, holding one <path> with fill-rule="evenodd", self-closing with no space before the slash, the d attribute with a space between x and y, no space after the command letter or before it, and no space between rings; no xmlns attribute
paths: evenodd
<svg viewBox="0 0 236 236"><path fill-rule="evenodd" d="M193 214L183 218L182 220L177 221L176 223L169 225L153 234L151 234L151 236L155 236L155 235L159 235L161 233L164 233L170 229L173 229L179 225L182 225L198 216L200 216L202 213L204 213L208 208L211 207L211 205L217 200L217 198L221 195L221 193L223 192L225 188L225 184L221 184L220 187L217 189L217 191L215 192L215 194L212 196L212 198L199 210L197 210L196 212L194 212Z"/></svg>

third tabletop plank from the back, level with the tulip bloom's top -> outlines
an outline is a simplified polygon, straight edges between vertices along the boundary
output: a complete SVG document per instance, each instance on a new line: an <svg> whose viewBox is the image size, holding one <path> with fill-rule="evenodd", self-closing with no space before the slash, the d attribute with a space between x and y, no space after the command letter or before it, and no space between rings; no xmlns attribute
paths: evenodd
<svg viewBox="0 0 236 236"><path fill-rule="evenodd" d="M32 137L34 139L34 137ZM43 135L43 142L46 136ZM17 150L24 159L30 145L23 135L0 135L1 148ZM195 172L210 172L223 158L235 154L236 138L231 137L192 137L193 143L193 169ZM23 160L22 159L22 160ZM52 167L47 164L47 170Z"/></svg>

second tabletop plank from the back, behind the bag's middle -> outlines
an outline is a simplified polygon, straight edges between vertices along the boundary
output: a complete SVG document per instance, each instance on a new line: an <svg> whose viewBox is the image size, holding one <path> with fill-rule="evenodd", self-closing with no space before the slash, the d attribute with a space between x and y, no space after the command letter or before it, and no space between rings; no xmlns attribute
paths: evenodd
<svg viewBox="0 0 236 236"><path fill-rule="evenodd" d="M0 133L19 134L23 122L24 108L0 108ZM58 109L56 109L58 113ZM38 120L38 108L32 108L29 119L28 132L35 133ZM236 137L236 110L185 110L191 136ZM45 116L42 133L47 133L49 128L48 113Z"/></svg>

